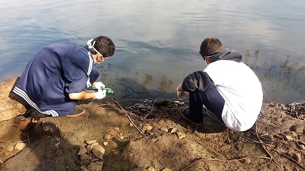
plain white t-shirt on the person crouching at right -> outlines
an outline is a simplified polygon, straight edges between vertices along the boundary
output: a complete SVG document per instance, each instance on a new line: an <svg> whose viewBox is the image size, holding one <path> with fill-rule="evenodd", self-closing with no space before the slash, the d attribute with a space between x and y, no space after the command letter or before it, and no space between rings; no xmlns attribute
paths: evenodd
<svg viewBox="0 0 305 171"><path fill-rule="evenodd" d="M205 72L225 100L222 119L232 130L251 128L262 105L262 89L256 74L243 62L218 60L210 63Z"/></svg>

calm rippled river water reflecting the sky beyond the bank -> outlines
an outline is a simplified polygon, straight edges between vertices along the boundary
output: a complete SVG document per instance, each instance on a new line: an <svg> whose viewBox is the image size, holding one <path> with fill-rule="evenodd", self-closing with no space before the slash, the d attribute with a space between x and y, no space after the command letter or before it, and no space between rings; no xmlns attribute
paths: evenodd
<svg viewBox="0 0 305 171"><path fill-rule="evenodd" d="M176 99L183 78L206 67L203 39L218 37L258 75L264 102L304 101L304 9L303 0L1 1L0 81L50 43L105 35L116 51L98 81L115 98Z"/></svg>

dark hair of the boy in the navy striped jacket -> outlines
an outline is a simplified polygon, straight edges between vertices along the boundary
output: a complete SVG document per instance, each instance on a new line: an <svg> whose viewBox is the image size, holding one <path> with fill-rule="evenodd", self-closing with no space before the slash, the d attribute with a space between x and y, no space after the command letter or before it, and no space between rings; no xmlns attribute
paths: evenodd
<svg viewBox="0 0 305 171"><path fill-rule="evenodd" d="M99 36L93 39L92 43L95 41L94 48L103 55L103 57L111 57L114 54L115 45L106 36ZM94 49L90 49L90 52L95 55L97 54Z"/></svg>

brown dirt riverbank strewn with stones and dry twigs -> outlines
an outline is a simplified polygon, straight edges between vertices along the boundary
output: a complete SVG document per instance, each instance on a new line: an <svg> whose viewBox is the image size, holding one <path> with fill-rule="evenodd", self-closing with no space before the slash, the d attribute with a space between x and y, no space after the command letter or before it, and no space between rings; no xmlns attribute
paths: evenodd
<svg viewBox="0 0 305 171"><path fill-rule="evenodd" d="M76 118L3 121L0 171L305 171L305 103L263 104L244 132L206 109L197 128L179 117L187 105L105 98Z"/></svg>

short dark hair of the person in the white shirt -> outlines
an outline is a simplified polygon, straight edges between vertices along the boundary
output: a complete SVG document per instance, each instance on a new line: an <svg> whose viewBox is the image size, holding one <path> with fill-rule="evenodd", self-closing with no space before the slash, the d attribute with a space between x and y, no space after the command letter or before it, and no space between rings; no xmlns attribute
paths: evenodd
<svg viewBox="0 0 305 171"><path fill-rule="evenodd" d="M208 37L203 40L200 46L200 55L202 57L209 57L217 54L222 51L224 48L222 47L222 43L216 37Z"/></svg>

